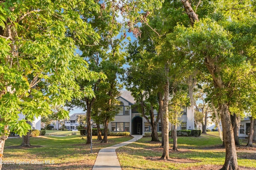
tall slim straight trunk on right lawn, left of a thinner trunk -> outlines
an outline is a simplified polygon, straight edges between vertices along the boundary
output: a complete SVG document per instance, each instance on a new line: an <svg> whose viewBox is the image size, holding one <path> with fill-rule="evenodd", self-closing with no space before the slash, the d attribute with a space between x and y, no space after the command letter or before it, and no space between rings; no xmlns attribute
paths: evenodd
<svg viewBox="0 0 256 170"><path fill-rule="evenodd" d="M169 69L166 68L166 73L168 74ZM161 159L169 159L169 79L167 78L166 83L164 85L164 115L163 115L163 124L164 129L162 133L164 133L164 150Z"/></svg>

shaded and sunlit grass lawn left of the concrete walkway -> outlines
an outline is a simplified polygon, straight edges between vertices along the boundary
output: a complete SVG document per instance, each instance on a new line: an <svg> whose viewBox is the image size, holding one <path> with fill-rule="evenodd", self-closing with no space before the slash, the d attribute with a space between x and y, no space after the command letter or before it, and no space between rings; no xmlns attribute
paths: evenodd
<svg viewBox="0 0 256 170"><path fill-rule="evenodd" d="M82 139L80 135L30 137L32 147L28 148L20 147L20 137L9 138L5 143L3 160L14 164L3 164L2 170L90 170L100 149L128 141L132 137L108 137L107 144L96 139L93 136L91 154L90 145L85 144L86 137Z"/></svg>

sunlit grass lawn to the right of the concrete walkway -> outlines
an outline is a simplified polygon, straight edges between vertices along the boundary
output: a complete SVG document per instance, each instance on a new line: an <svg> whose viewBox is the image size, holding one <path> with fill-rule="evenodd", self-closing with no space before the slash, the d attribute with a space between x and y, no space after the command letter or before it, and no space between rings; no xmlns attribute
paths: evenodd
<svg viewBox="0 0 256 170"><path fill-rule="evenodd" d="M213 149L222 145L218 132L217 135L202 134L197 138L178 137L179 151L170 150L170 160L159 160L163 152L161 143L150 140L150 137L145 137L136 143L116 149L122 170L220 169L225 161L225 150ZM244 145L246 141L240 142ZM170 139L170 147L172 147L172 139ZM240 169L256 169L255 152L237 152L237 155Z"/></svg>

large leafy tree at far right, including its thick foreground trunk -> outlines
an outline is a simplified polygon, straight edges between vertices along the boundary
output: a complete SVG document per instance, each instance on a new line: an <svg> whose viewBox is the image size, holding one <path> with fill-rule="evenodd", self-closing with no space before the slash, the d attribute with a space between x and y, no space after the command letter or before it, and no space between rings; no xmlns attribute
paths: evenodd
<svg viewBox="0 0 256 170"><path fill-rule="evenodd" d="M198 20L190 4L184 4L193 27L177 26L173 35L177 37L177 50L186 51L187 57L196 61L195 65L200 64L201 69L206 68L212 77L214 90L211 95L218 104L226 146L226 160L222 169L236 170L238 164L230 115L231 108L242 110L244 106L250 106L247 111L252 109L248 100L251 98L249 89L254 89L254 83L248 84L248 81L255 80L251 76L252 63L255 62L252 59L255 55L252 48L255 36L251 35L255 30L248 29L248 21L255 19L255 9L250 1L224 4L217 1L212 5L215 12ZM247 46L241 47L240 43L244 44L245 37ZM247 100L241 102L241 99ZM241 105L235 105L237 100Z"/></svg>

